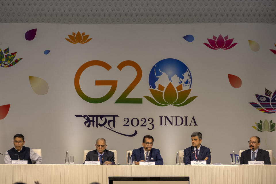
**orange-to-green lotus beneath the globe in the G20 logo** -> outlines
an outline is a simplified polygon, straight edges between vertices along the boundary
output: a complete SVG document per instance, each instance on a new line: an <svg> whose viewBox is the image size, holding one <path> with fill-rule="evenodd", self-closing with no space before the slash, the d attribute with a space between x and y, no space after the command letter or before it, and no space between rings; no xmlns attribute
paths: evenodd
<svg viewBox="0 0 276 184"><path fill-rule="evenodd" d="M158 86L158 90L150 89L150 93L152 93L152 96L155 100L149 96L144 97L157 106L168 106L172 104L173 106L177 107L185 106L197 97L194 96L187 99L191 89L183 90L182 84L177 86L175 89L172 83L169 83L166 89L164 89L165 87L160 84Z"/></svg>

